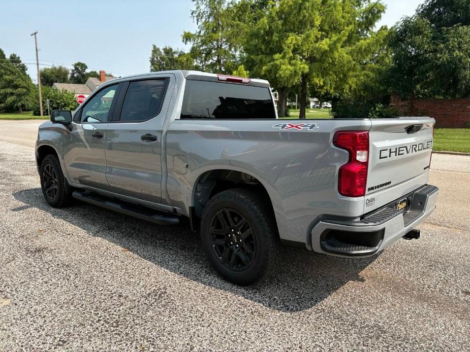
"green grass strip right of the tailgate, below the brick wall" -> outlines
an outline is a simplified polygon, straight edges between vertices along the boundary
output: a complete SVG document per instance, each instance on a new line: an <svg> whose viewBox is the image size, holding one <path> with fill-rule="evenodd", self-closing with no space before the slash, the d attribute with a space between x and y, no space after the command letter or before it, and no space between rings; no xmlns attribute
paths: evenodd
<svg viewBox="0 0 470 352"><path fill-rule="evenodd" d="M432 149L470 153L470 128L436 128Z"/></svg>

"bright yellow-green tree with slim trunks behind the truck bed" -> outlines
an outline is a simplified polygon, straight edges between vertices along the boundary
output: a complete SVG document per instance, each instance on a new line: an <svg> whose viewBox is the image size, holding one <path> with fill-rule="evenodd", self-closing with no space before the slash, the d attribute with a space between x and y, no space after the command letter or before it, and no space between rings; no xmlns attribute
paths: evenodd
<svg viewBox="0 0 470 352"><path fill-rule="evenodd" d="M247 36L248 61L277 88L279 101L300 82L305 118L307 86L318 96L337 96L355 84L361 63L385 37L385 28L373 30L384 11L367 0L273 2Z"/></svg>

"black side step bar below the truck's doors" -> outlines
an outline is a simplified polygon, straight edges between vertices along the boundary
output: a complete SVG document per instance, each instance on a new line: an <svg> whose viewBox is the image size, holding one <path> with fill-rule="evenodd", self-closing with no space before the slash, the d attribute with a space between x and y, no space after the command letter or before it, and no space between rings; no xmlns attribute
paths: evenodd
<svg viewBox="0 0 470 352"><path fill-rule="evenodd" d="M178 225L179 218L175 215L159 212L158 210L139 206L136 204L119 201L115 198L109 198L89 191L73 191L72 197L75 199L98 205L103 208L114 210L115 212L129 215L131 217L146 220L158 225Z"/></svg>

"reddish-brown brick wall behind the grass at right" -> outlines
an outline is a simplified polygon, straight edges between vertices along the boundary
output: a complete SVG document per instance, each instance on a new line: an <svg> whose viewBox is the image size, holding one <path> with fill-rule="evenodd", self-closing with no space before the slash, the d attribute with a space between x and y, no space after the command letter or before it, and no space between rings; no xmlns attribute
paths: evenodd
<svg viewBox="0 0 470 352"><path fill-rule="evenodd" d="M418 99L390 96L390 104L398 109L400 116L429 116L436 120L435 127L470 127L470 98L464 99Z"/></svg>

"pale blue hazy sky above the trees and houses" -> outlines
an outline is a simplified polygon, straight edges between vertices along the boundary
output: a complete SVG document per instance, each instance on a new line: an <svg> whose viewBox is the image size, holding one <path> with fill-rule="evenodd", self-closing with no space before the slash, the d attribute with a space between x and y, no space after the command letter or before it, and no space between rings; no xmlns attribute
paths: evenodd
<svg viewBox="0 0 470 352"><path fill-rule="evenodd" d="M387 12L380 24L393 25L412 15L423 0L385 0ZM0 48L23 62L35 63L38 30L40 63L66 65L85 62L89 69L105 69L115 76L149 71L152 44L186 49L184 30L194 30L191 0L76 0L5 1L0 21ZM36 66L28 64L36 80Z"/></svg>

